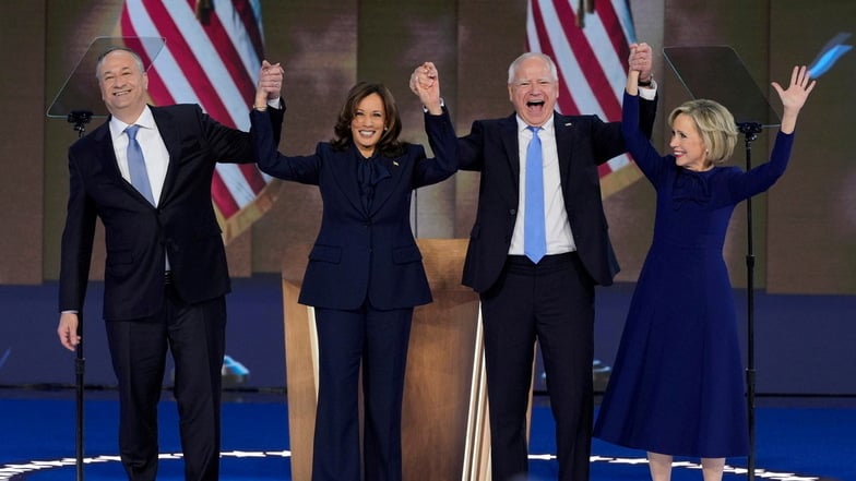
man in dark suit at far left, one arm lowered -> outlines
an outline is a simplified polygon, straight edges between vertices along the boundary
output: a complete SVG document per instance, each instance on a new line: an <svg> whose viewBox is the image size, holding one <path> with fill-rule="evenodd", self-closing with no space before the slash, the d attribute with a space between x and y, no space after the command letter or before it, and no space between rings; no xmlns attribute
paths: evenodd
<svg viewBox="0 0 856 481"><path fill-rule="evenodd" d="M213 481L230 287L211 180L218 161L255 161L253 148L248 133L217 123L199 106L147 106L148 77L129 49L105 52L96 76L110 118L69 149L57 334L70 350L80 342L78 313L100 218L104 318L128 479L156 477L157 402L169 349L186 479ZM264 62L260 84L277 107L281 82L282 69ZM281 124L283 110L270 112Z"/></svg>

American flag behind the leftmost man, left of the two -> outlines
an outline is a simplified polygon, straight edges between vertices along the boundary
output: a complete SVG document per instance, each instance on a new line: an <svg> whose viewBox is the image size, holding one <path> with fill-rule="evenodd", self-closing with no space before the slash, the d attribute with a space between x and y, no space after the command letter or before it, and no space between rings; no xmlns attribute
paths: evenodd
<svg viewBox="0 0 856 481"><path fill-rule="evenodd" d="M199 104L224 125L249 130L264 37L260 0L126 0L122 37L148 70L155 105ZM163 37L159 53L133 37ZM153 55L157 55L152 59ZM229 242L273 203L274 183L254 164L218 164L212 202Z"/></svg>

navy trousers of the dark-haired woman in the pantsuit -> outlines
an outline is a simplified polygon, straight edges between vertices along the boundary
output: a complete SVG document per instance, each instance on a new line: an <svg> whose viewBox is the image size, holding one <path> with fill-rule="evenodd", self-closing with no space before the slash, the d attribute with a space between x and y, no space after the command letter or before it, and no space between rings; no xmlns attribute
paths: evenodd
<svg viewBox="0 0 856 481"><path fill-rule="evenodd" d="M412 321L412 308L380 311L368 302L354 311L316 308L319 392L312 481L401 481L402 398Z"/></svg>

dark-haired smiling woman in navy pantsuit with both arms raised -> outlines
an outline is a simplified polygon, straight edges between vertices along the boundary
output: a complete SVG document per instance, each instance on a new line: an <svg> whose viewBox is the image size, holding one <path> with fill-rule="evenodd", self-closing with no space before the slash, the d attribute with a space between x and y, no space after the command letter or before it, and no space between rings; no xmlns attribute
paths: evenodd
<svg viewBox="0 0 856 481"><path fill-rule="evenodd" d="M316 308L320 385L312 480L401 480L401 411L413 309L431 302L409 215L414 189L457 169L454 128L440 99L433 64L420 69L419 98L436 158L399 141L395 100L381 84L347 95L335 139L314 154L276 151L260 85L250 113L259 167L321 190L321 230L299 302ZM365 433L360 469L358 378L362 368Z"/></svg>

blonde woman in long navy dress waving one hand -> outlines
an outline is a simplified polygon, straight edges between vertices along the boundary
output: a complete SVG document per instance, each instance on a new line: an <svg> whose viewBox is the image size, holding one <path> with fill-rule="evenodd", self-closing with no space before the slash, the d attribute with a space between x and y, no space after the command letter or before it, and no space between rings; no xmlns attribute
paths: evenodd
<svg viewBox="0 0 856 481"><path fill-rule="evenodd" d="M722 250L735 206L784 173L797 116L816 82L794 68L769 163L747 172L721 166L738 132L730 112L691 100L669 115L671 154L640 132L639 72L622 107L628 151L656 190L654 237L630 304L601 405L595 436L647 452L654 481L668 480L673 456L701 458L705 481L725 458L749 452L737 312Z"/></svg>

